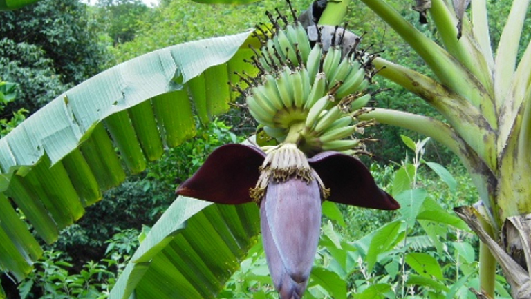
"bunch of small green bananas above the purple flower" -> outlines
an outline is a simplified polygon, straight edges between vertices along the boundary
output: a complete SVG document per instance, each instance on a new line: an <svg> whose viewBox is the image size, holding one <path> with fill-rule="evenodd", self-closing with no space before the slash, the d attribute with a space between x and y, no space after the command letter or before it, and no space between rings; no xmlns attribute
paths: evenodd
<svg viewBox="0 0 531 299"><path fill-rule="evenodd" d="M366 88L373 75L373 56L357 50L359 38L355 45L344 44L350 33L344 28L335 27L332 37L328 33L310 42L297 19L288 23L280 12L268 17L272 25L261 24L256 32L262 46L252 64L259 75L241 75L250 87L239 88L261 130L279 143L297 144L309 156L322 151L363 152L362 140L351 136L368 125L357 123L355 116L371 99ZM290 131L292 139L286 140Z"/></svg>

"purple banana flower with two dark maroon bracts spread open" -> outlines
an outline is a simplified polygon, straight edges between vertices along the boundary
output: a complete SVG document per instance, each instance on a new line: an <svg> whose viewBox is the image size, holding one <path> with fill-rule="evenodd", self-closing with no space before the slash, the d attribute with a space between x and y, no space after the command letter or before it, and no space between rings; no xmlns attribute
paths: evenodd
<svg viewBox="0 0 531 299"><path fill-rule="evenodd" d="M326 151L308 159L295 144L267 153L241 144L221 146L176 193L220 204L259 205L265 256L281 299L299 299L306 289L323 200L371 209L400 207L357 158Z"/></svg>

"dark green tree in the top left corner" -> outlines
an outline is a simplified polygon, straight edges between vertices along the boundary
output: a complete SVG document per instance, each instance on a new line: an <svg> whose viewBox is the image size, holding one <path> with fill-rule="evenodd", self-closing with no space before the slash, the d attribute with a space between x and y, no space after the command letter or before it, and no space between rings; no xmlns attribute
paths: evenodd
<svg viewBox="0 0 531 299"><path fill-rule="evenodd" d="M0 75L19 84L13 110L34 112L74 84L98 73L107 59L86 5L43 0L2 13Z"/></svg>

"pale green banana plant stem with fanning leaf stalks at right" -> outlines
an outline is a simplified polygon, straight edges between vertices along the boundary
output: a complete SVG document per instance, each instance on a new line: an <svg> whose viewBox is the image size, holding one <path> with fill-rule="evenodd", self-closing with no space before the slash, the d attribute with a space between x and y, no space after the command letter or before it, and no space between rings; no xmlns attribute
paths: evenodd
<svg viewBox="0 0 531 299"><path fill-rule="evenodd" d="M481 292L493 296L496 258L511 284L512 296L529 298L531 44L517 59L529 1L512 1L495 50L488 30L487 1L417 1L421 18L427 16L435 24L442 46L386 1L362 1L422 57L436 77L380 57L373 61L376 68L382 68L378 75L418 95L446 122L384 108L375 108L360 119L409 128L436 139L458 155L480 195L476 206L456 212L483 241ZM346 12L347 4L330 1L320 22L339 24L337 15Z"/></svg>

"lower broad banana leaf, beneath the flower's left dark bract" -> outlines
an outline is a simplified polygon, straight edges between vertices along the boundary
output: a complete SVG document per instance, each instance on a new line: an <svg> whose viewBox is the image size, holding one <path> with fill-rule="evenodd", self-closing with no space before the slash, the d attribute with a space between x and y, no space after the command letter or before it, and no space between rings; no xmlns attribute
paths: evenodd
<svg viewBox="0 0 531 299"><path fill-rule="evenodd" d="M224 210L248 214L251 222L227 219ZM253 237L237 240L244 227ZM140 244L109 298L215 298L258 233L255 204L215 205L178 197Z"/></svg>

